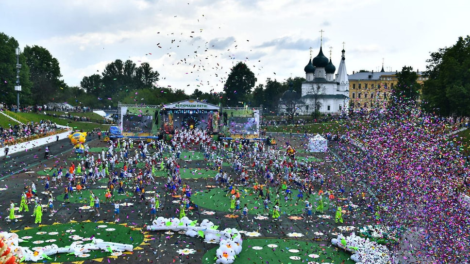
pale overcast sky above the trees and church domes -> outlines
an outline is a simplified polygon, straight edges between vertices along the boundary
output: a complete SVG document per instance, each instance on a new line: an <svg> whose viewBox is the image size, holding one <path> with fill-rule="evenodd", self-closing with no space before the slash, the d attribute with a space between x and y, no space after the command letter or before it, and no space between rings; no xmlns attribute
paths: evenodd
<svg viewBox="0 0 470 264"><path fill-rule="evenodd" d="M0 32L42 46L65 82L80 85L116 59L148 62L159 86L222 91L245 62L258 83L305 77L309 47L349 74L412 66L470 34L470 1L448 0L1 0ZM465 22L467 21L467 22ZM467 26L466 26L467 25Z"/></svg>

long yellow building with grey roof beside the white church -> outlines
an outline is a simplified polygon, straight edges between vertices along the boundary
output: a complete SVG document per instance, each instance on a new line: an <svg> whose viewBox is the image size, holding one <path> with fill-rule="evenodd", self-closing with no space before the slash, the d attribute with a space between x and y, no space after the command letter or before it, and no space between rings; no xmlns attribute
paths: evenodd
<svg viewBox="0 0 470 264"><path fill-rule="evenodd" d="M418 73L417 82L422 84L427 77ZM391 89L397 84L396 71L353 72L349 79L349 103L354 111L384 109Z"/></svg>

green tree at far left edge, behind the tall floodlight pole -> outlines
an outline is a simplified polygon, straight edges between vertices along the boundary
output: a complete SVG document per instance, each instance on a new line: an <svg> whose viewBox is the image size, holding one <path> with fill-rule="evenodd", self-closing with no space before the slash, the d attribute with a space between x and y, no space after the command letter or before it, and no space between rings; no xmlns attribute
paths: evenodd
<svg viewBox="0 0 470 264"><path fill-rule="evenodd" d="M7 105L17 104L15 85L17 81L17 56L18 42L15 38L0 33L0 102ZM24 53L20 53L19 81L21 85L20 105L29 105L31 100L30 71L26 64Z"/></svg>

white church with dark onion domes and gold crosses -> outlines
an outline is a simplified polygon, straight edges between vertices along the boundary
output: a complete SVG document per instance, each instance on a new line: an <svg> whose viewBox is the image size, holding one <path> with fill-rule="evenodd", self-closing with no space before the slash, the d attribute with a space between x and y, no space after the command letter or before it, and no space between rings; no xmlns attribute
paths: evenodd
<svg viewBox="0 0 470 264"><path fill-rule="evenodd" d="M305 82L302 82L300 100L304 104L300 115L309 115L317 110L322 114L348 114L349 80L346 72L344 53L341 50L341 61L335 75L336 67L324 54L320 45L317 57L311 59L304 67Z"/></svg>

